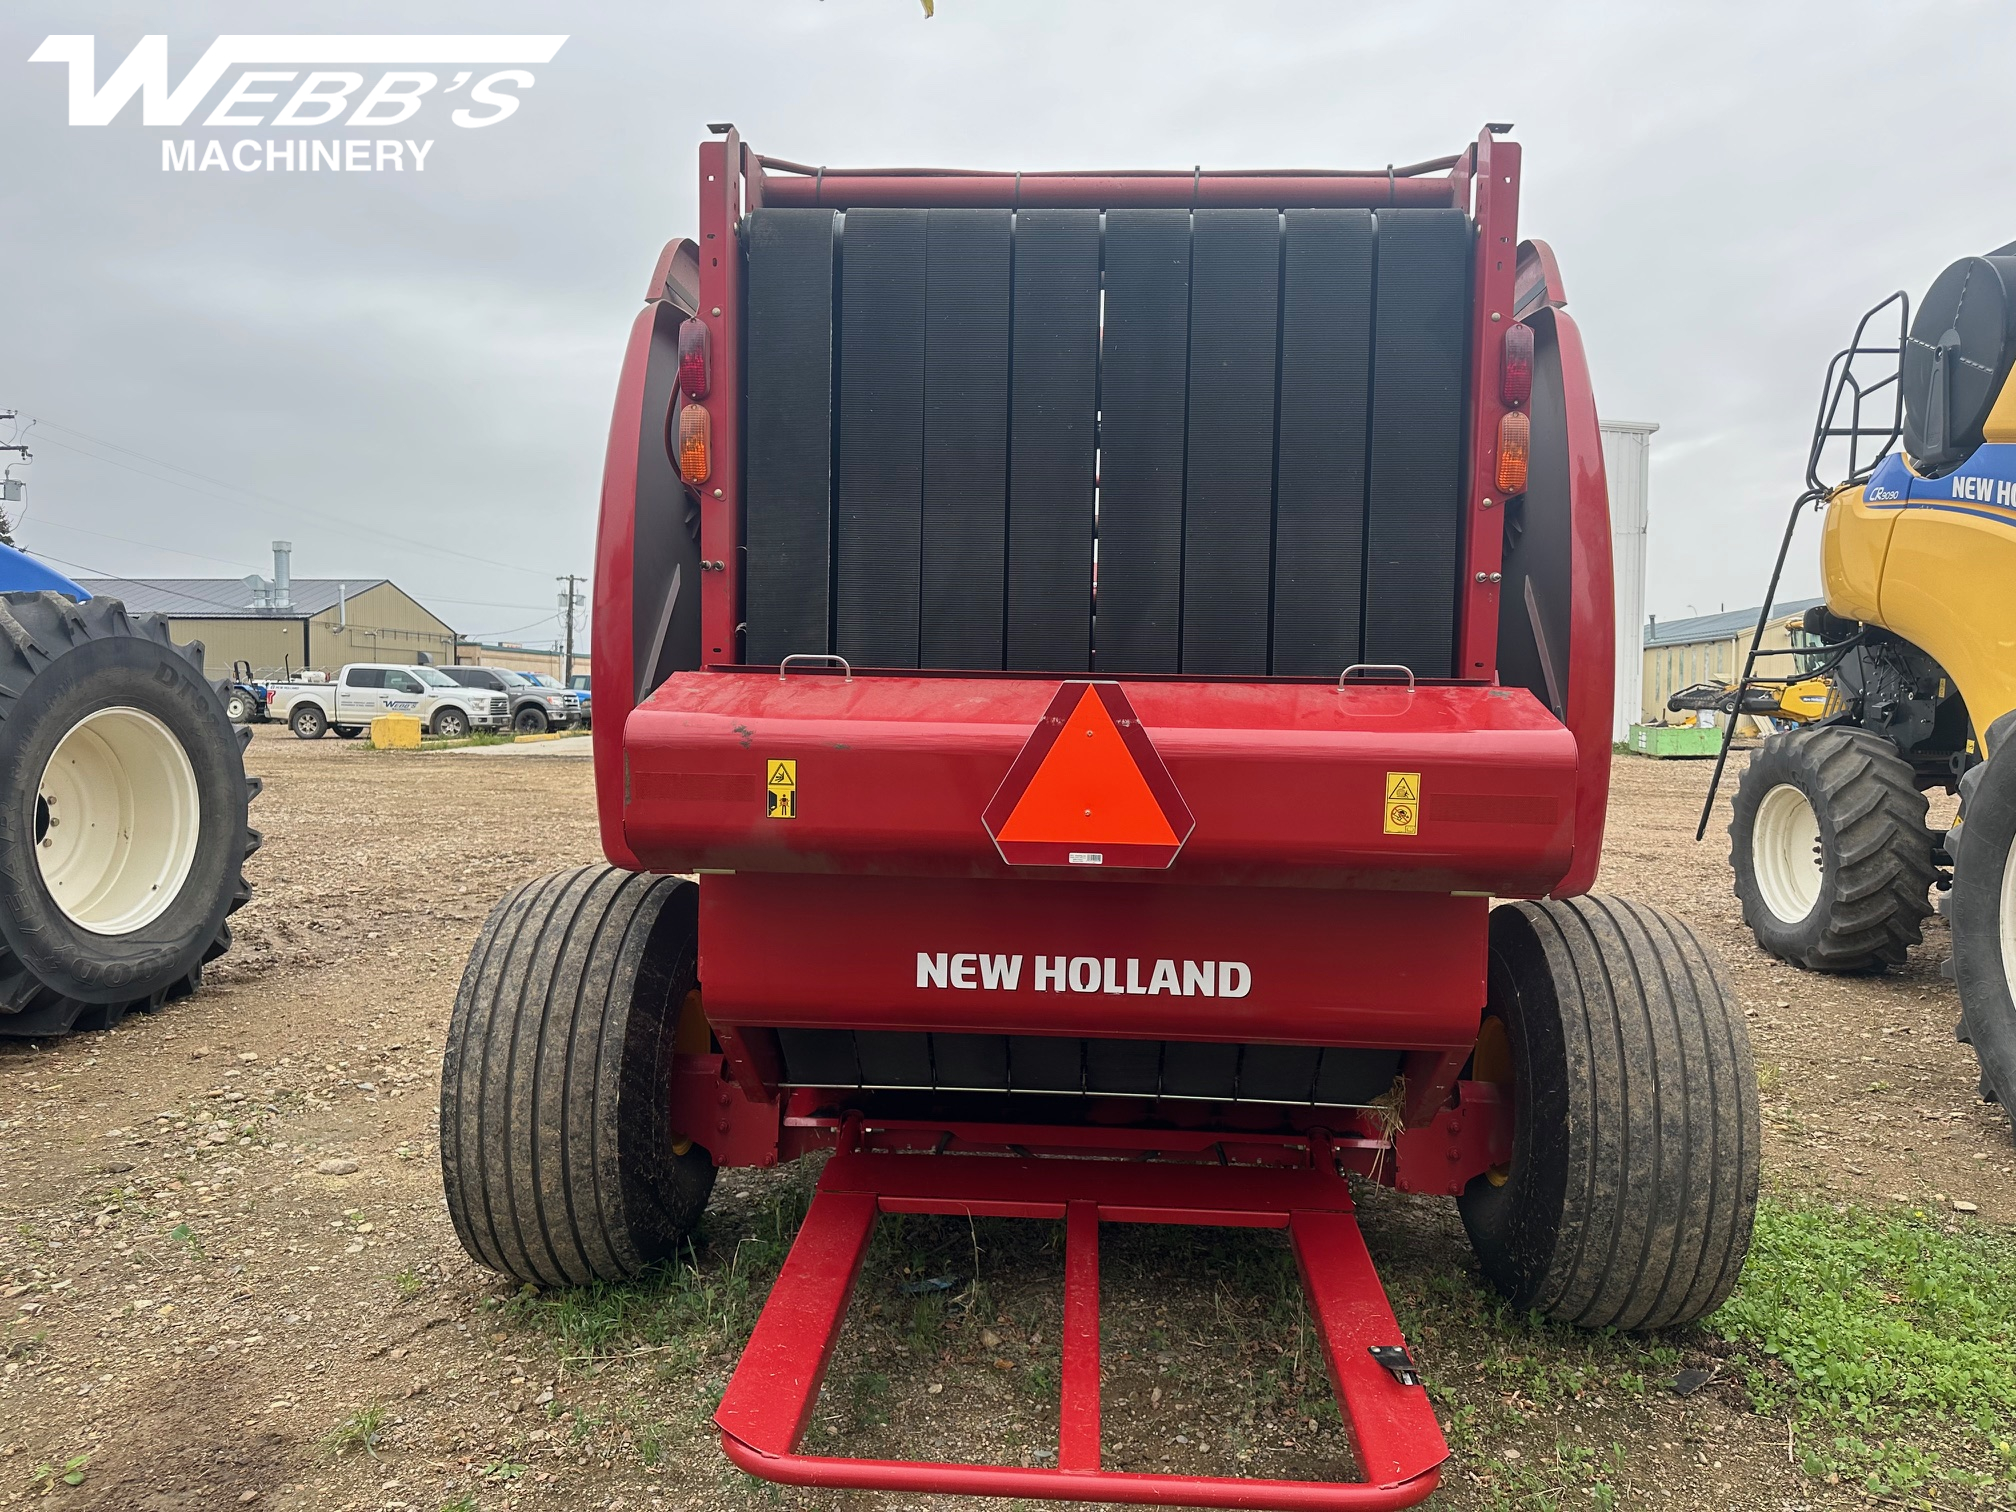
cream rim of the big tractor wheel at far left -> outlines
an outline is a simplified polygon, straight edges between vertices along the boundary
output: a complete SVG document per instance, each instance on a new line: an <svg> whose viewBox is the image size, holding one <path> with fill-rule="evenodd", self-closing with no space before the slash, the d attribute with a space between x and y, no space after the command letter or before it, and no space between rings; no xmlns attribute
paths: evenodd
<svg viewBox="0 0 2016 1512"><path fill-rule="evenodd" d="M71 923L145 929L181 893L200 837L196 768L151 714L99 710L56 742L36 788L34 859Z"/></svg>

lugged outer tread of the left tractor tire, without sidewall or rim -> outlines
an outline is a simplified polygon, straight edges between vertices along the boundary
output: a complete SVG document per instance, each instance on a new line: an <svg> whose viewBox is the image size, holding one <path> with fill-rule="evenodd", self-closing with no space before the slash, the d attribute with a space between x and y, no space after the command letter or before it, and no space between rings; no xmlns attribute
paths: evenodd
<svg viewBox="0 0 2016 1512"><path fill-rule="evenodd" d="M167 631L167 619L161 615L131 615L119 599L87 599L85 603L77 603L60 593L0 595L0 720L14 708L28 683L65 651L115 635L165 645L190 661L198 675L204 671L204 647L200 641L177 645ZM222 700L218 700L218 718L224 718ZM252 740L252 728L240 724L232 726L232 732L238 748L244 750ZM264 782L260 778L246 778L248 800L258 798L262 788ZM256 829L246 829L244 861L252 859L260 843L262 835ZM240 861L232 885L230 913L252 901L252 883L246 881L244 861ZM165 982L127 1002L81 1002L42 986L6 946L0 946L0 1034L8 1038L42 1038L75 1030L113 1028L129 1012L153 1012L163 1004L196 994L204 986L204 966L224 956L230 948L232 927L226 921L204 948L202 962L173 982Z"/></svg>

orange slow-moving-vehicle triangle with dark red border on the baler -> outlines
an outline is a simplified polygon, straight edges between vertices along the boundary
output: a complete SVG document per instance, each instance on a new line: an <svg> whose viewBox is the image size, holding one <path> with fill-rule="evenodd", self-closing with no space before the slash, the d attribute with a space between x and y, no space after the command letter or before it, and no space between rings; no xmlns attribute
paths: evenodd
<svg viewBox="0 0 2016 1512"><path fill-rule="evenodd" d="M984 814L1010 867L1167 867L1195 821L1119 683L1064 683Z"/></svg>

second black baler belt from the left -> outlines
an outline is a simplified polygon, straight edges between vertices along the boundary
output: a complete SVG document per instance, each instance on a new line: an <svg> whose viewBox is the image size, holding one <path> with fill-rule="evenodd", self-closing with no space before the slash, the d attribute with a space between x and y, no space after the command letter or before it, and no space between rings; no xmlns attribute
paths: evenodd
<svg viewBox="0 0 2016 1512"><path fill-rule="evenodd" d="M855 210L841 236L835 651L917 665L923 498L923 210Z"/></svg>

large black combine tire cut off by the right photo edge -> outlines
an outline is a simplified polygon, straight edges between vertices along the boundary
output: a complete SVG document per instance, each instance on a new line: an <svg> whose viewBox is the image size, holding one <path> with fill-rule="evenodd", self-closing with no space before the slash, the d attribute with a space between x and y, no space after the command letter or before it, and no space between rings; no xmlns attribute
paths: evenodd
<svg viewBox="0 0 2016 1512"><path fill-rule="evenodd" d="M1960 1038L1982 1062L1982 1097L2016 1119L2016 758L1996 750L1968 786L1949 919Z"/></svg>

